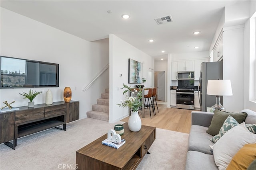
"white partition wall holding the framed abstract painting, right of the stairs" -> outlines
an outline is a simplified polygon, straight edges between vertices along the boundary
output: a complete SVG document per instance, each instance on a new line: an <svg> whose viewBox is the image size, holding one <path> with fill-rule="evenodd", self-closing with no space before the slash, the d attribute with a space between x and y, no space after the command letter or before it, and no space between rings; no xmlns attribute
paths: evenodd
<svg viewBox="0 0 256 170"><path fill-rule="evenodd" d="M129 43L123 41L116 35L110 34L110 105L109 122L118 121L128 116L128 108L117 106L120 100L124 100L123 83L134 87L135 84L128 84L128 59L139 61L143 64L142 76L148 79L148 69L154 69L153 57L140 51ZM122 76L119 74L122 73ZM148 86L148 82L145 83Z"/></svg>

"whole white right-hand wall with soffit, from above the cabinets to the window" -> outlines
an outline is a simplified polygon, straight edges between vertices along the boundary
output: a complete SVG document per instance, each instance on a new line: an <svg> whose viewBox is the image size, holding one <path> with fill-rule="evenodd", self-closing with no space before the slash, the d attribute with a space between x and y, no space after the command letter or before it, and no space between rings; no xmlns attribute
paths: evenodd
<svg viewBox="0 0 256 170"><path fill-rule="evenodd" d="M209 49L211 53L220 30L223 28L223 79L231 80L233 90L233 96L223 97L222 104L227 111L240 111L246 108L256 111L256 104L249 101L248 90L250 65L248 18L252 16L255 9L255 1L241 2L226 7Z"/></svg>

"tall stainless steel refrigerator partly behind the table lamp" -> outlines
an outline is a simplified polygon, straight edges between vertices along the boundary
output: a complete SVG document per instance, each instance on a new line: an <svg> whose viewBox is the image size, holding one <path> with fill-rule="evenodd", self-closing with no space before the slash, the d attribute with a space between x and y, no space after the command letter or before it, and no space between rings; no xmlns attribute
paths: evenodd
<svg viewBox="0 0 256 170"><path fill-rule="evenodd" d="M201 63L201 72L198 82L201 92L201 95L199 96L201 111L207 111L207 107L212 107L216 103L216 96L206 94L208 80L222 80L222 74L222 61ZM222 96L220 96L220 101L222 102Z"/></svg>

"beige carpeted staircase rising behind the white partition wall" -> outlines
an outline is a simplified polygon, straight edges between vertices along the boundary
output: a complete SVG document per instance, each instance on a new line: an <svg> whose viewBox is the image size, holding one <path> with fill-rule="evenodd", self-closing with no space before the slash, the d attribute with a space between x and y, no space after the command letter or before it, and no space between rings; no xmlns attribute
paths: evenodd
<svg viewBox="0 0 256 170"><path fill-rule="evenodd" d="M105 89L105 93L97 99L97 104L92 105L92 110L87 111L86 115L93 119L109 120L109 89Z"/></svg>

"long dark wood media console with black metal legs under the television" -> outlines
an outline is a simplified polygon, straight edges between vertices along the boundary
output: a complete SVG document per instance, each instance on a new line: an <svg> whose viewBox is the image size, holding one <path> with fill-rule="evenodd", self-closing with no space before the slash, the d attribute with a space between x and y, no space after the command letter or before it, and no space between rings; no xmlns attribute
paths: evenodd
<svg viewBox="0 0 256 170"><path fill-rule="evenodd" d="M52 127L66 131L66 123L79 119L79 102L54 102L22 106L18 110L0 113L0 143L15 149L17 139ZM60 126L61 127L57 127ZM10 141L13 141L10 143Z"/></svg>

